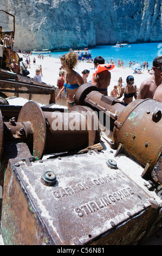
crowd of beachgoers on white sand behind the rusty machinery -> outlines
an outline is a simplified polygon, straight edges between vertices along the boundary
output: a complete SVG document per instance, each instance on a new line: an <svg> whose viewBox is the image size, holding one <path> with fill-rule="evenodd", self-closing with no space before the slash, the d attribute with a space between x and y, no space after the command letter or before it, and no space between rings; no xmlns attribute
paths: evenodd
<svg viewBox="0 0 162 256"><path fill-rule="evenodd" d="M23 59L20 58L20 65L15 63L11 64L11 71L22 76L27 76L27 70L30 66L36 66L35 74L33 79L37 82L42 83L43 71L42 65L36 65L37 60L43 61L44 58L50 57L43 54L38 54L38 56L32 56L31 52L21 52ZM31 57L32 62L31 63ZM43 62L42 62L43 63ZM61 94L66 93L67 107L71 108L75 105L74 95L76 90L83 84L90 82L94 86L99 88L100 93L105 96L115 97L116 100L121 99L122 105L127 106L135 99L146 99L152 98L162 102L162 95L160 94L160 89L162 87L162 57L155 57L152 65L144 61L142 64L134 61L129 62L129 69L133 70L133 74L128 75L124 81L122 76L119 75L118 81L111 88L111 92L108 94L108 88L111 84L112 71L115 66L118 68L124 67L124 61L111 59L105 60L102 56L97 56L94 59L81 59L78 60L77 54L70 50L68 53L60 56L61 66L58 70L57 81L55 84L56 88L59 88L59 93L56 95L56 102L60 100ZM90 70L85 67L81 74L75 71L77 63L92 63L93 76L89 77ZM112 70L109 68L112 66ZM91 68L92 69L92 68ZM120 72L120 70L119 70ZM140 86L137 86L134 81L134 75L144 74L147 72L150 76L141 81ZM161 96L160 96L161 95Z"/></svg>

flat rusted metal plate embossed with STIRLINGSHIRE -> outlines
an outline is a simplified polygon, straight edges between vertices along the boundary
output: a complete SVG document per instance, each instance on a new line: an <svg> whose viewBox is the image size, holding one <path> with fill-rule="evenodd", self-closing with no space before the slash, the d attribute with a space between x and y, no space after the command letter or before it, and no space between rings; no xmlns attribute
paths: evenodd
<svg viewBox="0 0 162 256"><path fill-rule="evenodd" d="M142 225L138 216L147 216L148 211L150 216L153 214L153 209L149 210L150 195L120 169L109 168L102 156L71 156L31 162L30 166L22 163L14 170L55 245L85 245L95 239L98 242L94 244L111 244L107 234L121 227L118 241L127 227L130 236L135 218L140 220L134 230L138 236L138 227ZM47 171L55 173L53 186L42 182ZM22 221L20 218L17 228ZM133 244L128 233L123 242Z"/></svg>

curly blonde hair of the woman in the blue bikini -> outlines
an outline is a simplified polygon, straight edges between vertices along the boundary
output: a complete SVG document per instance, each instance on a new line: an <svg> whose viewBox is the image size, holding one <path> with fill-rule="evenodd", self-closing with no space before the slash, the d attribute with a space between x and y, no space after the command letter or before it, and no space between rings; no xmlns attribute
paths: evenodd
<svg viewBox="0 0 162 256"><path fill-rule="evenodd" d="M61 62L66 63L70 69L74 69L77 64L78 56L72 49L60 58Z"/></svg>

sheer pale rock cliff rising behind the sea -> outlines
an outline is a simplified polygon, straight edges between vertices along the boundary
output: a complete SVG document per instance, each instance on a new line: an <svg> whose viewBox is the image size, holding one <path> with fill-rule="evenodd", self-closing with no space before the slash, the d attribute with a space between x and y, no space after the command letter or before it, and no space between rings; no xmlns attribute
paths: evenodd
<svg viewBox="0 0 162 256"><path fill-rule="evenodd" d="M159 0L1 0L15 15L15 49L67 50L162 40ZM0 25L9 28L11 19Z"/></svg>

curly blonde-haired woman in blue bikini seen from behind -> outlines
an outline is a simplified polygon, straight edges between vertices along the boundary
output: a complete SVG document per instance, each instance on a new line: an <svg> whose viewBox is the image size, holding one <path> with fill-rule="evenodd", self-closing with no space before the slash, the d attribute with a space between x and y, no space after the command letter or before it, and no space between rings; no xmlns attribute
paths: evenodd
<svg viewBox="0 0 162 256"><path fill-rule="evenodd" d="M67 93L67 107L71 108L74 106L74 95L76 90L81 84L84 83L83 78L74 71L74 68L78 61L78 56L75 52L70 50L70 52L64 54L61 58L61 65L63 70L65 70L64 75L64 87L60 90L59 94L56 96L56 100L60 100L61 94Z"/></svg>

